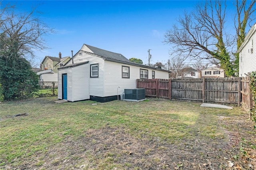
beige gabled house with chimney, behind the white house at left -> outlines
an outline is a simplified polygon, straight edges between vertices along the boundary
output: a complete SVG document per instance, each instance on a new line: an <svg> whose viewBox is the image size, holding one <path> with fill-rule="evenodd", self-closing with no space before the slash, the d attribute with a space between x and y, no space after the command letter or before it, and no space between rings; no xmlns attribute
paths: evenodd
<svg viewBox="0 0 256 170"><path fill-rule="evenodd" d="M37 72L40 75L40 82L58 82L58 68L62 67L70 57L61 57L61 53L59 53L59 57L50 57L45 56L41 65L41 71Z"/></svg>

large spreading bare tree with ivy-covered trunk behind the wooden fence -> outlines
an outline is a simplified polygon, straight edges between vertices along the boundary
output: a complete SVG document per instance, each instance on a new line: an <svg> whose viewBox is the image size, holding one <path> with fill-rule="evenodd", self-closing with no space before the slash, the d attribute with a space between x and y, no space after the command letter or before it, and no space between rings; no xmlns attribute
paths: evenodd
<svg viewBox="0 0 256 170"><path fill-rule="evenodd" d="M225 1L206 1L195 11L180 17L178 24L165 34L165 42L174 44L174 53L185 57L217 59L227 76L234 75L229 48L234 45L225 34Z"/></svg>

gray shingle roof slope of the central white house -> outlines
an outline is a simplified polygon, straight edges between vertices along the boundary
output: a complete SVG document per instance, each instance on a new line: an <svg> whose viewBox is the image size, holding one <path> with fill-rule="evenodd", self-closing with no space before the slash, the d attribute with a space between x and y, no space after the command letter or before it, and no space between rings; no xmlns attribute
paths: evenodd
<svg viewBox="0 0 256 170"><path fill-rule="evenodd" d="M107 58L116 59L116 60L120 60L120 61L129 61L129 59L127 59L126 57L124 57L124 55L122 55L120 53L106 51L104 49L93 47L93 46L87 45L87 44L84 44L84 45L86 45L96 55L100 55L102 57L107 57Z"/></svg>

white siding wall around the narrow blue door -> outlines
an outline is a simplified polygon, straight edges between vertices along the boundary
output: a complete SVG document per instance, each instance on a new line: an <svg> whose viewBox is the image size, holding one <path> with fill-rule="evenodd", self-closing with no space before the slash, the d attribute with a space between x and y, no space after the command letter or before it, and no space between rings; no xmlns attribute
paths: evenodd
<svg viewBox="0 0 256 170"><path fill-rule="evenodd" d="M67 99L68 101L73 100L72 95L72 68L59 69L58 70L58 99L62 99L62 74L67 74Z"/></svg>

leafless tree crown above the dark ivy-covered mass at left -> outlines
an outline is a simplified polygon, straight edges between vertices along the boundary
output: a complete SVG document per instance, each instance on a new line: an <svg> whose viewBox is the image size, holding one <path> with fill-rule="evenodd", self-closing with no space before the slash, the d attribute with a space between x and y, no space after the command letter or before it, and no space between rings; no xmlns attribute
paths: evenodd
<svg viewBox="0 0 256 170"><path fill-rule="evenodd" d="M46 49L44 36L53 33L44 22L30 13L16 13L14 6L6 6L0 12L1 49L6 52L15 46L17 56L27 60L35 57L34 50ZM5 56L14 57L14 56Z"/></svg>

